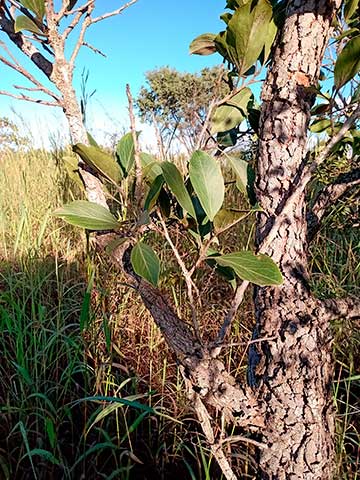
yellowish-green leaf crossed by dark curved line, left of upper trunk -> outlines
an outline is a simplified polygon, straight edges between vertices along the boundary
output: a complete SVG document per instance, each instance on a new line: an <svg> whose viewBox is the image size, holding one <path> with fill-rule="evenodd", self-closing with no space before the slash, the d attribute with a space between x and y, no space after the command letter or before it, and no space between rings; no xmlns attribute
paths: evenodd
<svg viewBox="0 0 360 480"><path fill-rule="evenodd" d="M227 132L240 125L247 114L247 104L251 96L251 90L246 87L220 105L211 120L211 133Z"/></svg>

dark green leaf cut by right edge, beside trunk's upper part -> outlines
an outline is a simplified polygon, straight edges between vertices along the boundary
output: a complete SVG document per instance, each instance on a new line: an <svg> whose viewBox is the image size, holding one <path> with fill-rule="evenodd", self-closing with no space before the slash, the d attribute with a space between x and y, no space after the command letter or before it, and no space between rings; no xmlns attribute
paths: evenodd
<svg viewBox="0 0 360 480"><path fill-rule="evenodd" d="M340 52L334 69L335 86L341 88L360 70L360 36L347 42Z"/></svg>

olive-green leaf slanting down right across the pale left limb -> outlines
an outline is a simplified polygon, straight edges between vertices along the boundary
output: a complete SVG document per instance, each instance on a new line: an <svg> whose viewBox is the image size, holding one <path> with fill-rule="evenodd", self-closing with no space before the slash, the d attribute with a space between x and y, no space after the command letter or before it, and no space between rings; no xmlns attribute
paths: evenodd
<svg viewBox="0 0 360 480"><path fill-rule="evenodd" d="M73 145L73 151L80 158L103 177L118 184L122 179L122 173L116 160L100 148L77 143Z"/></svg>

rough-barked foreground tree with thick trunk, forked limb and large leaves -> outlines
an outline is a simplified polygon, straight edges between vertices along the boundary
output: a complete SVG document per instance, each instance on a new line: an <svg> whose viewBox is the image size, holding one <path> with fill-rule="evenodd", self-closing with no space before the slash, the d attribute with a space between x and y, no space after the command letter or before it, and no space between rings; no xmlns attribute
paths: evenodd
<svg viewBox="0 0 360 480"><path fill-rule="evenodd" d="M115 218L106 206L83 201L65 206L58 215L94 231L96 246L110 254L127 283L139 293L182 367L188 396L227 479L234 480L236 475L224 445L244 441L259 449L259 478L330 480L334 459L330 321L335 317L359 318L360 302L356 298L315 298L308 281L307 249L328 204L359 184L360 108L357 92L349 93L348 83L359 70L358 2L228 0L227 7L230 11L222 16L225 30L219 35L202 35L192 43L191 51L219 51L231 75L240 79L249 78L255 65L269 60L260 122L256 124L256 115L251 120L259 141L257 203L249 195L248 214L257 215L257 254L227 253L229 245L224 246L225 251L210 250L224 229L241 221L243 212L223 208L226 191L220 164L202 151L191 156L185 180L174 164L142 155L146 164L142 173L149 187L143 211L134 207L133 221L124 218L121 210ZM351 29L343 34L344 19ZM336 47L340 46L335 88L325 95L318 83L325 51L333 48L332 36L340 42ZM245 90L246 82L240 83L226 104L214 105L209 122L235 127L239 110L241 118L247 115L250 122L254 102ZM325 102L312 110L316 96ZM320 138L319 148L308 151L312 113L323 117L315 119L311 128L318 132L326 128L330 138L326 142ZM226 130L219 128L219 132ZM104 182L120 183L120 195L121 181L129 178L135 154L141 156L136 152L135 132L121 140L118 164L97 149L77 146L75 150ZM350 153L351 170L325 187L309 206L306 188L310 180L321 165L344 151ZM226 152L223 160L233 168L239 189L251 193L250 166ZM195 238L198 252L191 266L186 265L172 240L174 224L181 231L191 231L190 238ZM144 241L154 231L167 240L184 276L189 322L179 318L157 286L159 259ZM227 275L232 283L235 276L243 280L236 287L218 337L211 343L205 343L201 336L196 308L201 299L194 273L204 264ZM249 354L249 382L242 384L228 374L219 355L250 283L256 285L256 326ZM217 428L211 415L214 411L221 417ZM226 437L233 428L241 433Z"/></svg>

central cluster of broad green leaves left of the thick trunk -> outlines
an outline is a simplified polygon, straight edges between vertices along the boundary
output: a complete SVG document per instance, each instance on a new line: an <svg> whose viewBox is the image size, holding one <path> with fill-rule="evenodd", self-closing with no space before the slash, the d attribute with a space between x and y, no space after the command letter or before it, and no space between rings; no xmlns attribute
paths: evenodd
<svg viewBox="0 0 360 480"><path fill-rule="evenodd" d="M108 171L106 162L99 166L99 159L106 159L109 165L112 165L113 157L105 154L100 147L85 147L84 145L75 145L73 147L78 151L86 164L96 167L101 172L104 180L115 183L114 177ZM132 181L131 173L134 162L129 161L134 155L132 137L129 133L125 134L119 141L116 155L122 159L124 173L128 178L118 182L120 191L125 190L124 182ZM162 217L160 212L166 217L166 222L178 223L186 225L189 235L194 237L199 248L199 265L205 261L206 257L202 257L201 251L206 244L206 250L212 243L220 246L220 252L226 248L226 244L221 245L217 237L218 232L224 232L243 219L243 215L232 215L228 213L224 215L226 210L222 210L221 219L218 214L222 209L225 198L226 189L225 182L219 160L215 157L203 152L195 151L186 165L186 180L183 179L179 169L171 162L158 162L154 158L145 157L147 162L143 164L143 176L147 180L147 195L143 202L143 212L137 213L137 228L133 230L136 238L141 238L141 227L145 223L150 225L150 229L157 230L160 228ZM236 176L241 178L243 183L237 182L238 191L247 197L246 187L251 183L248 177L248 170L243 168L239 173L239 163L234 157L229 157L228 168L230 167ZM226 157L223 159L226 161ZM239 160L247 165L245 160ZM146 175L149 173L149 165L151 168L157 167L161 172L159 175ZM249 172L251 170L249 169ZM133 189L130 188L132 191ZM128 199L134 203L135 199ZM249 201L249 200L248 200ZM255 212L256 209L249 207L249 213ZM164 213L166 212L166 213ZM55 215L63 218L71 225L76 225L88 230L121 230L123 225L127 225L126 221L117 221L116 218L106 208L91 202L77 200L64 207L58 209ZM119 218L124 217L123 211L118 211ZM216 219L216 221L215 221ZM167 235L167 227L163 223L163 234ZM205 243L204 243L205 242ZM232 260L231 260L232 259ZM281 273L274 262L265 256L256 256L251 252L235 252L233 256L220 255L215 256L216 263L227 266L241 279L251 281L258 285L278 285L282 281ZM159 281L160 261L149 245L143 241L138 241L132 248L131 263L135 273L143 277L154 286Z"/></svg>

